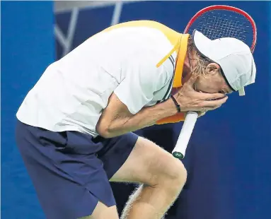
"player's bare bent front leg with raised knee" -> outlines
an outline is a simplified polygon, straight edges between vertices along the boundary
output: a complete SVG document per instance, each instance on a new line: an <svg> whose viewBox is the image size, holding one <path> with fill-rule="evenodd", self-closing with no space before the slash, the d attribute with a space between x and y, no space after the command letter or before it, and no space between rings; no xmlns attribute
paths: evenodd
<svg viewBox="0 0 271 219"><path fill-rule="evenodd" d="M151 141L139 138L125 164L110 180L142 183L130 196L121 218L163 218L180 194L186 176L180 160Z"/></svg>

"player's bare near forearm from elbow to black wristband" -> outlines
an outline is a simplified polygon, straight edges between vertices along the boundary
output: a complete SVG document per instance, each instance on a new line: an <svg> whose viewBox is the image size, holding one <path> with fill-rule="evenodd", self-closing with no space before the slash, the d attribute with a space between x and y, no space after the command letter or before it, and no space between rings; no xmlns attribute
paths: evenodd
<svg viewBox="0 0 271 219"><path fill-rule="evenodd" d="M143 108L137 114L134 114L131 117L117 117L108 126L106 131L103 131L103 135L106 138L120 136L129 131L136 131L146 126L154 125L158 120L165 117L170 117L176 113L177 109L173 100L168 99L165 102L161 102L157 105Z"/></svg>

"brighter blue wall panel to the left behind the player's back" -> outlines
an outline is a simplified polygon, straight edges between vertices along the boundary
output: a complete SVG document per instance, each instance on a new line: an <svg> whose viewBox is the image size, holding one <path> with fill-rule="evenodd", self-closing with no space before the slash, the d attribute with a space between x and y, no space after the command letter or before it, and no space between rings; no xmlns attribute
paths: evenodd
<svg viewBox="0 0 271 219"><path fill-rule="evenodd" d="M16 111L54 61L53 3L1 2L1 218L45 218L14 139Z"/></svg>

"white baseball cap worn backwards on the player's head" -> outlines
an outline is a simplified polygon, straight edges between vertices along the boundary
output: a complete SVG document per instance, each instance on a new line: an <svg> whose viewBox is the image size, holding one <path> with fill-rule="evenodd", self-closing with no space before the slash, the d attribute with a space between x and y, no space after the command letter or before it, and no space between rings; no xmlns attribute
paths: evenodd
<svg viewBox="0 0 271 219"><path fill-rule="evenodd" d="M232 90L245 95L244 87L255 82L256 66L248 45L236 38L224 37L209 40L201 32L194 30L194 45L203 57L221 67L221 73Z"/></svg>

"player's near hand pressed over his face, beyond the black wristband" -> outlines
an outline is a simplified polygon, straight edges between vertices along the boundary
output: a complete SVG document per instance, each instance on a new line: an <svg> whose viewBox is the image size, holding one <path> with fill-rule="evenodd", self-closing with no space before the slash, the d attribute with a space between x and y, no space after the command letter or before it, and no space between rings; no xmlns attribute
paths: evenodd
<svg viewBox="0 0 271 219"><path fill-rule="evenodd" d="M174 95L181 111L204 112L217 109L228 99L226 95L221 93L200 93L195 91L193 85L196 80L197 76L191 76Z"/></svg>

